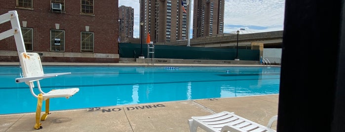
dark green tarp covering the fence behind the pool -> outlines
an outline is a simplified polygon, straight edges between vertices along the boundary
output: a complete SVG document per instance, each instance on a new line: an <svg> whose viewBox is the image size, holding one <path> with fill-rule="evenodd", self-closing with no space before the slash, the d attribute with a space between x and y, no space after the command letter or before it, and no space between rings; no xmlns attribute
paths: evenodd
<svg viewBox="0 0 345 132"><path fill-rule="evenodd" d="M142 52L146 58L148 46L143 44L119 43L120 58L138 58ZM150 55L151 56L151 55ZM204 48L173 45L154 45L154 58L190 60L234 60L236 48ZM259 61L260 50L238 49L238 58L243 61Z"/></svg>

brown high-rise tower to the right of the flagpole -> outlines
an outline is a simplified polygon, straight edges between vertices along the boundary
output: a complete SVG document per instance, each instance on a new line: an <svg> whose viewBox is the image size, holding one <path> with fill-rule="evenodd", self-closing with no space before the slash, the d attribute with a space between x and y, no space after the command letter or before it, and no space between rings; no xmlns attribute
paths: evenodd
<svg viewBox="0 0 345 132"><path fill-rule="evenodd" d="M194 0L193 38L224 32L224 0Z"/></svg>

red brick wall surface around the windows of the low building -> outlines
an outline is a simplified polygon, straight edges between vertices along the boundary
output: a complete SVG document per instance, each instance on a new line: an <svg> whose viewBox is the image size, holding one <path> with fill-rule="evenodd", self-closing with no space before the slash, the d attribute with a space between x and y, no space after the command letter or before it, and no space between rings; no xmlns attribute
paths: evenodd
<svg viewBox="0 0 345 132"><path fill-rule="evenodd" d="M118 0L94 0L94 16L80 14L80 0L65 0L65 12L62 13L53 13L50 10L50 0L34 0L33 10L15 7L16 0L2 2L0 14L17 10L20 25L23 26L22 21L27 21L27 28L33 28L34 51L30 52L50 52L50 30L55 29L55 24L60 24L59 30L65 30L65 53L80 53L80 32L85 31L85 26L89 26L89 32L94 32L94 53L118 54ZM0 32L9 29L9 22L0 25ZM16 51L14 38L0 40L0 50ZM10 57L0 57L0 62L9 61L3 58ZM49 60L52 59L44 59L42 62L50 62ZM107 58L60 57L54 60L61 62L84 62L86 60L86 62L99 63ZM111 60L118 60L118 58Z"/></svg>

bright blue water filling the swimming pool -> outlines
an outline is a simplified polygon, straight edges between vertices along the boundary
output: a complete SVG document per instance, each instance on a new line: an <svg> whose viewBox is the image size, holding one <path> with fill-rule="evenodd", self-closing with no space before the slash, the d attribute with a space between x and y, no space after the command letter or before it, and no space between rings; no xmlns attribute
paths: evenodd
<svg viewBox="0 0 345 132"><path fill-rule="evenodd" d="M79 88L70 99L50 99L50 110L278 94L280 82L280 67L43 66L43 69L44 73L72 72L41 80L44 92ZM20 73L19 66L0 66L0 114L36 111L37 99L29 87L15 82ZM38 94L37 88L34 91Z"/></svg>

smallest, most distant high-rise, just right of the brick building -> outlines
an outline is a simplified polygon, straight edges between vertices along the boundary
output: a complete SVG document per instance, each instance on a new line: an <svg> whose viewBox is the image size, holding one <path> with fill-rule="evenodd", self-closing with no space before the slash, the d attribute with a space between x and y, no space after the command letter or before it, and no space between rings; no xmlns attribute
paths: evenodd
<svg viewBox="0 0 345 132"><path fill-rule="evenodd" d="M121 5L118 7L119 42L127 42L133 38L134 8Z"/></svg>

